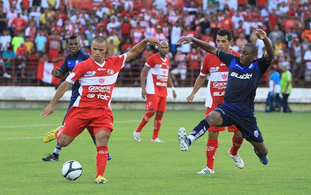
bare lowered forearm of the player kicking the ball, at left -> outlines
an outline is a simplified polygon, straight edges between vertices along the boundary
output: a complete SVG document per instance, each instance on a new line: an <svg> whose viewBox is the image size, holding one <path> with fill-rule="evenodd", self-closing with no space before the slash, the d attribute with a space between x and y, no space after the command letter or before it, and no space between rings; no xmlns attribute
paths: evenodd
<svg viewBox="0 0 311 195"><path fill-rule="evenodd" d="M40 117L45 118L50 116L54 110L56 103L58 100L65 94L65 92L69 89L71 83L67 82L66 80L58 87L56 90L52 100L50 101L49 105L47 105L41 112Z"/></svg>

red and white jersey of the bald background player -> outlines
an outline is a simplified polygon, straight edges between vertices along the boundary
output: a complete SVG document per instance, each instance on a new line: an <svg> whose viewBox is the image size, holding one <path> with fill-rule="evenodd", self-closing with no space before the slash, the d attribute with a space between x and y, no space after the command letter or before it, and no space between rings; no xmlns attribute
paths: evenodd
<svg viewBox="0 0 311 195"><path fill-rule="evenodd" d="M155 53L147 59L145 65L150 67L146 79L147 94L157 94L161 97L167 96L170 67L169 57L166 56L163 59L159 53Z"/></svg>

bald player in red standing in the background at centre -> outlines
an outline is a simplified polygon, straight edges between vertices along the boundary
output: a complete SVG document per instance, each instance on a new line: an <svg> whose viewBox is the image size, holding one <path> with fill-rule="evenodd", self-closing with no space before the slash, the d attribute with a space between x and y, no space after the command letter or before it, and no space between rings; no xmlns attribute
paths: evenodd
<svg viewBox="0 0 311 195"><path fill-rule="evenodd" d="M169 43L162 40L163 46L159 47L159 52L151 55L140 74L141 96L146 98L146 110L137 129L133 132L134 139L140 142L140 132L142 127L149 121L151 116L156 113L153 122L153 135L151 142L164 142L159 137L159 131L162 123L164 111L167 104L167 86L171 87L173 97L176 99L177 94L174 89L172 78L170 76L170 59L166 54L169 52ZM146 80L146 73L147 80Z"/></svg>

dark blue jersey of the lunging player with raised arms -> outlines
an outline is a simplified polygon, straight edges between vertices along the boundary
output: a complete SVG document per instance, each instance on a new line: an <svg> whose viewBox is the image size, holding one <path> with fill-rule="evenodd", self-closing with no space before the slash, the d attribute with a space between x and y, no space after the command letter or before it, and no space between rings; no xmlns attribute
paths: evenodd
<svg viewBox="0 0 311 195"><path fill-rule="evenodd" d="M229 68L224 104L238 112L253 113L259 80L272 61L261 57L249 66L242 66L240 57L236 55L222 50L217 50L216 54Z"/></svg>

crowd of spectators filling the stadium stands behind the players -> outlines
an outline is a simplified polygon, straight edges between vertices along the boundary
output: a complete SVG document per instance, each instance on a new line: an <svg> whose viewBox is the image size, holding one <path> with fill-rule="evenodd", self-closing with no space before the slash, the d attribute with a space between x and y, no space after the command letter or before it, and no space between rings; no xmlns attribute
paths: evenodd
<svg viewBox="0 0 311 195"><path fill-rule="evenodd" d="M184 64L186 76L195 78L206 52L194 44L176 45L181 36L195 36L216 46L215 34L227 28L233 34L232 49L239 51L251 42L261 57L265 48L254 30L262 28L274 47L274 64L288 64L295 78L311 81L308 0L164 1L103 0L86 9L68 0L0 0L0 72L11 78L10 69L15 64L23 82L30 61L64 60L67 39L73 34L78 35L86 53L92 38L103 35L108 41L106 56L124 53L144 37L156 36L170 42L171 69ZM119 76L133 78L131 84L138 85L139 79L134 78L155 52L157 48L147 45ZM185 75L177 77L180 79L175 79L175 84L184 85Z"/></svg>

